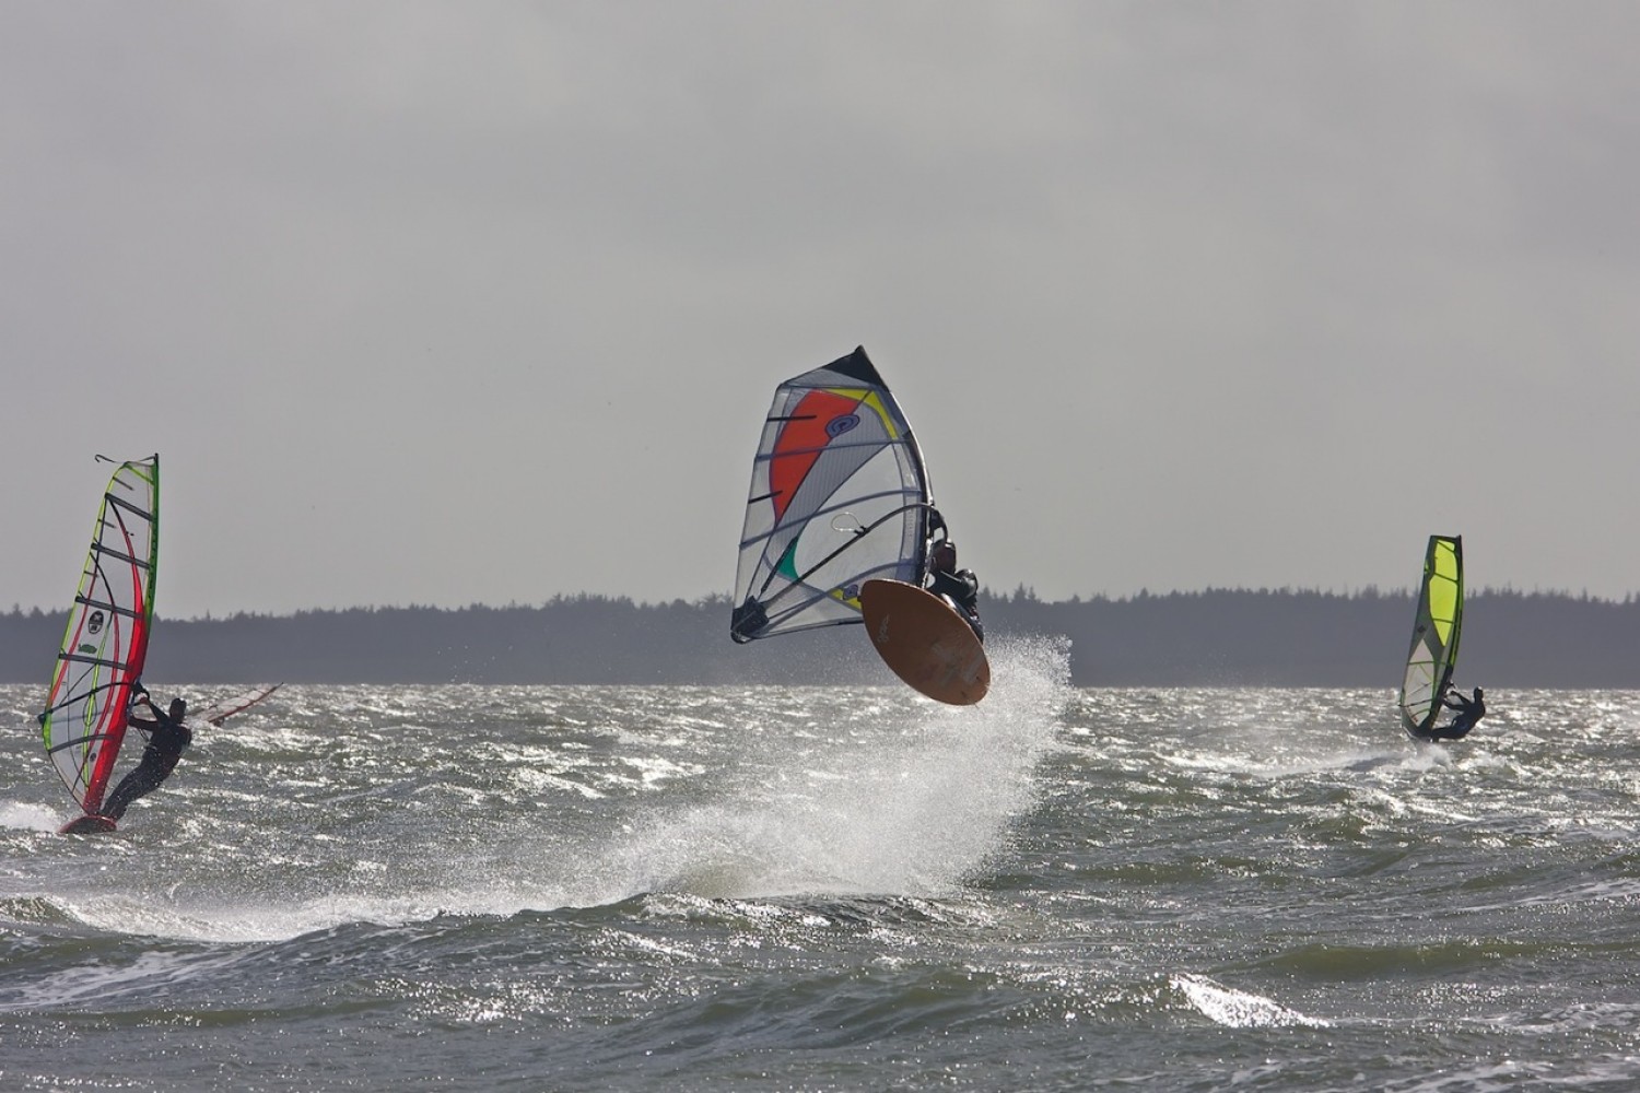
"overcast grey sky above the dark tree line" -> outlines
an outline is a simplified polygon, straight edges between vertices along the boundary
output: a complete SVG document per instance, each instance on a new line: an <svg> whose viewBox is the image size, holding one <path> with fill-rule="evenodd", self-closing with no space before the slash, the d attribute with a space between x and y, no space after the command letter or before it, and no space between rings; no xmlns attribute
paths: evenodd
<svg viewBox="0 0 1640 1093"><path fill-rule="evenodd" d="M0 610L728 593L864 344L1000 592L1640 592L1640 5L0 5Z"/></svg>

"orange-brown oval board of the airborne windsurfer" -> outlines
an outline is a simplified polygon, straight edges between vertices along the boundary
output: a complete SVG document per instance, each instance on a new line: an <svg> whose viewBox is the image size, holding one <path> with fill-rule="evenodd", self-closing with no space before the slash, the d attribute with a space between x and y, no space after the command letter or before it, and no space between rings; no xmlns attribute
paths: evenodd
<svg viewBox="0 0 1640 1093"><path fill-rule="evenodd" d="M859 587L866 633L882 662L928 698L971 706L991 690L991 662L956 610L902 580Z"/></svg>

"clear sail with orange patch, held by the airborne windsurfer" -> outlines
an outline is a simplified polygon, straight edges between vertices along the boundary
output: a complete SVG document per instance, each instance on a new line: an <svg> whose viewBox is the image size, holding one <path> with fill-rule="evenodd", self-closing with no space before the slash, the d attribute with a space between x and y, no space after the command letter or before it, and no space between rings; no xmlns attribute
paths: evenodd
<svg viewBox="0 0 1640 1093"><path fill-rule="evenodd" d="M730 636L861 623L871 577L922 583L928 472L864 347L789 379L751 464Z"/></svg>

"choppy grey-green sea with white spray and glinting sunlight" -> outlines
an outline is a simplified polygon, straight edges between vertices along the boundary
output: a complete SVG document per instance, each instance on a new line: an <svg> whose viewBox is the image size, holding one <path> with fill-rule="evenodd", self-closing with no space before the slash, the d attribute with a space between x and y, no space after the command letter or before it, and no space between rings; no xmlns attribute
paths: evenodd
<svg viewBox="0 0 1640 1093"><path fill-rule="evenodd" d="M3 687L0 1088L1640 1088L1640 693L1420 746L992 655L966 710L292 685L110 836Z"/></svg>

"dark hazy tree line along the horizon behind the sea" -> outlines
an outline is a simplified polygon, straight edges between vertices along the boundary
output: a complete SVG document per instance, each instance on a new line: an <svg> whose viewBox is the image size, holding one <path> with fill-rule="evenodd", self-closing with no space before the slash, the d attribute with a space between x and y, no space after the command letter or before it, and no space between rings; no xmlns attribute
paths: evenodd
<svg viewBox="0 0 1640 1093"><path fill-rule="evenodd" d="M1410 593L1171 592L1048 603L984 595L987 642L1066 636L1079 687L1397 687ZM858 628L736 646L728 598L348 608L156 619L149 680L230 683L825 683L892 677ZM0 615L0 682L44 685L62 613ZM1483 590L1465 606L1463 685L1640 687L1640 601Z"/></svg>

